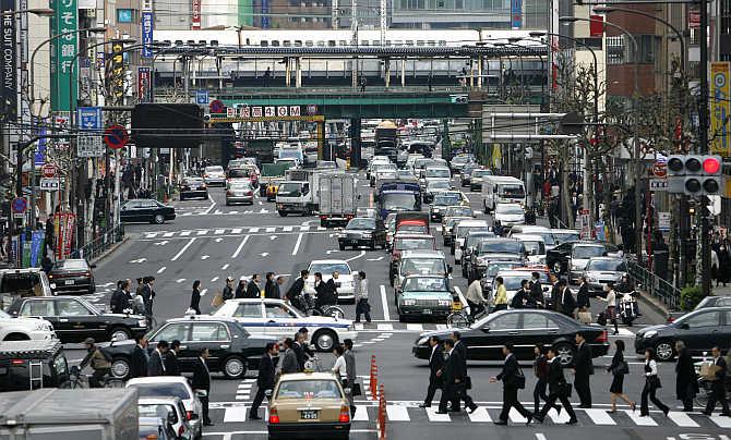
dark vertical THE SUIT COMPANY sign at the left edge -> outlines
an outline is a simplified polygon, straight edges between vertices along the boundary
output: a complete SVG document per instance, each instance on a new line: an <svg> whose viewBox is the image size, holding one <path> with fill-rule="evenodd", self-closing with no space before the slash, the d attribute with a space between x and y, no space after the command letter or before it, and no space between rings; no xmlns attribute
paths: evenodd
<svg viewBox="0 0 731 440"><path fill-rule="evenodd" d="M0 0L2 17L0 19L0 32L2 36L2 61L0 64L2 74L2 106L0 111L5 114L8 121L17 119L17 45L15 20L15 0Z"/></svg>

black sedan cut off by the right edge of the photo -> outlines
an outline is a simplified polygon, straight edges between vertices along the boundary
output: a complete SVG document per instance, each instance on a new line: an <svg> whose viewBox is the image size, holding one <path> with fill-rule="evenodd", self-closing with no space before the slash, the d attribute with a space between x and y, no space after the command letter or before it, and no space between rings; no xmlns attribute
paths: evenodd
<svg viewBox="0 0 731 440"><path fill-rule="evenodd" d="M635 352L654 349L658 359L671 360L676 341L683 341L692 356L715 345L726 353L731 347L731 307L700 308L674 322L646 327L635 334Z"/></svg>

